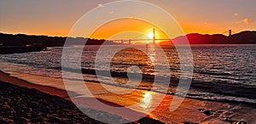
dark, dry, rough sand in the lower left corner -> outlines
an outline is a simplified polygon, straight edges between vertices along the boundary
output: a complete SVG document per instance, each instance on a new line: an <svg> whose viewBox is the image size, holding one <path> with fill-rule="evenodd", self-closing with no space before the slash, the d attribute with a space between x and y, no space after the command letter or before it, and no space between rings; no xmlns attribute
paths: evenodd
<svg viewBox="0 0 256 124"><path fill-rule="evenodd" d="M0 123L99 123L60 97L6 82L1 82L0 88Z"/></svg>

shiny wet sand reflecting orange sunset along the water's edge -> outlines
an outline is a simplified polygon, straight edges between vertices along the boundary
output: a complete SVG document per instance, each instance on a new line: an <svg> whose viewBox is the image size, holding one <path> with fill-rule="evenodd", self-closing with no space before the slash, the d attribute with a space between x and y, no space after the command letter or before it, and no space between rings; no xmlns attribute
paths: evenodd
<svg viewBox="0 0 256 124"><path fill-rule="evenodd" d="M26 75L26 76L25 76ZM28 74L15 74L21 79L30 79L29 82L25 80L20 80L19 78L9 76L3 72L0 72L0 80L3 82L10 82L20 87L36 88L41 92L49 93L61 97L62 99L68 100L68 95L65 90L51 86L42 86L30 82L36 82L36 80L43 80L42 76L31 76ZM54 80L54 79L50 79ZM61 80L61 79L55 79ZM97 99L101 99L104 104L109 104L113 106L128 106L134 104L134 101L143 101L143 94L149 93L153 98L157 98L160 93L153 93L148 91L136 90L131 94L126 94L124 96L113 95L111 93L105 93L99 90L97 83L88 84L92 91L96 91L95 96ZM20 87L18 89L20 89ZM100 95L99 95L100 94ZM124 99L125 98L125 99ZM133 100L129 100L133 99ZM166 122L166 123L238 123L241 121L247 121L247 123L256 122L256 109L255 105L252 104L239 104L239 103L224 103L224 102L214 102L205 101L199 99L185 99L183 104L181 104L177 110L171 112L169 110L170 103L172 102L173 96L166 95L165 99L160 103L160 105L153 112L148 113L148 115L154 119ZM68 103L71 103L67 101ZM93 103L92 103L93 104ZM150 103L152 104L152 103ZM153 101L154 104L154 101ZM74 106L75 107L75 106ZM90 108L94 110L104 110L102 108ZM134 111L137 116L142 116L143 112L147 111ZM104 112L103 112L104 113ZM113 114L106 112L108 114ZM141 115L142 114L142 115ZM116 114L115 114L116 115ZM127 119L127 118L126 118ZM121 119L122 120L122 119ZM45 120L47 121L47 120ZM124 121L124 120L122 120Z"/></svg>

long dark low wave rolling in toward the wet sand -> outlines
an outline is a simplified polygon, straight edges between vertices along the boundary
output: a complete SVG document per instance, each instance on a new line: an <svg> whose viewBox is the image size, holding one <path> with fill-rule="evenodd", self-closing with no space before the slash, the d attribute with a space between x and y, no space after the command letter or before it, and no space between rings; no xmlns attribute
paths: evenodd
<svg viewBox="0 0 256 124"><path fill-rule="evenodd" d="M92 69L71 69L71 68L62 68L62 70L67 70L71 72L82 72L83 74L87 75L96 75L96 70ZM104 75L104 73L108 73L107 70L97 70L102 72L102 76L108 76ZM128 78L126 72L116 72L113 70L110 70L112 77L117 78ZM136 76L137 74L135 74ZM85 81L86 82L86 81ZM89 81L90 82L90 81ZM154 75L150 74L143 74L143 83L154 83ZM171 77L171 82L169 87L176 88L177 84L179 82L178 77ZM113 85L117 87L126 87L126 88L137 88L141 90L152 90L157 93L165 93L164 88L154 90L152 87L132 87L129 85L119 85L117 83L106 83L108 85ZM150 86L150 85L149 85ZM192 80L190 90L199 92L199 94L192 94L188 93L186 97L193 98L193 99L208 99L208 100L218 100L218 101L229 101L236 103L248 103L248 104L256 104L256 87L245 87L241 85L236 85L230 82L197 82L195 80ZM208 97L207 95L201 95L200 93L211 93L215 94L211 97ZM168 92L167 94L173 95L175 92ZM220 97L219 97L220 96Z"/></svg>

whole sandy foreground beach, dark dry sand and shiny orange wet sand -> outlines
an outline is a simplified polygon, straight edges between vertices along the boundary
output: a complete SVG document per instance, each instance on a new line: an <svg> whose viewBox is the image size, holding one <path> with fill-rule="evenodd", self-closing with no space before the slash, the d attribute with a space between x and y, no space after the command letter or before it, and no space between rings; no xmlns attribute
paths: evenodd
<svg viewBox="0 0 256 124"><path fill-rule="evenodd" d="M19 77L19 78L18 78ZM1 120L9 122L92 122L99 123L85 116L79 111L70 99L65 90L61 88L44 86L37 84L38 80L58 81L61 79L48 79L50 77L35 76L30 74L21 74L13 72L11 75L0 72L1 82ZM27 81L29 82L27 82ZM9 82L9 83L6 83ZM33 82L33 83L32 83ZM35 82L35 83L34 83ZM100 99L102 103L112 106L129 106L134 104L132 101L143 100L143 94L150 93L152 97L157 97L159 93L136 90L131 94L124 96L104 93L98 86L98 83L89 83L89 87L95 91L95 97ZM101 94L101 95L97 95ZM136 96L136 97L135 97ZM88 98L90 100L90 98ZM88 100L87 99L87 100ZM133 99L133 100L129 100ZM224 102L214 102L199 99L185 99L177 110L171 112L169 110L173 96L166 95L160 105L151 113L147 111L131 110L137 116L147 113L148 117L154 118L147 121L159 123L247 123L255 122L256 109L252 104L233 104ZM130 102L131 101L131 102ZM20 104L21 103L21 104ZM28 104L31 103L31 104ZM32 104L34 103L34 104ZM91 103L93 104L93 103ZM154 104L154 103L153 103ZM90 105L90 104L89 104ZM39 107L38 107L39 106ZM99 115L113 115L104 108L88 108L90 112ZM128 108L127 108L128 109ZM129 110L129 109L128 109ZM3 112L4 111L4 112ZM19 115L19 116L18 116ZM119 116L119 122L125 122L127 116ZM73 117L67 117L73 116ZM108 118L111 120L111 118ZM143 123L143 120L140 120ZM136 121L135 123L137 123ZM145 122L144 122L145 123ZM148 122L146 122L148 123Z"/></svg>

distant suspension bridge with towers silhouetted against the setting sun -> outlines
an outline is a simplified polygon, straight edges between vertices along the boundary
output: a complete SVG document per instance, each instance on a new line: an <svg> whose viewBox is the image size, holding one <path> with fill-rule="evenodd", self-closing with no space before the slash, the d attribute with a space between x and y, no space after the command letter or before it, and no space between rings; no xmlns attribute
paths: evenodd
<svg viewBox="0 0 256 124"><path fill-rule="evenodd" d="M235 31L232 30L228 30L228 31L224 31L221 34L224 35L228 32L228 36L230 37L232 35L232 33L234 33ZM235 32L236 33L236 32ZM171 35L173 36L173 35ZM152 38L148 38L148 39L113 39L113 40L108 40L108 41L112 41L112 42L117 42L117 43L121 43L121 44L128 44L131 45L131 42L137 42L137 41L152 41L152 43L155 45L155 41L170 41L172 39L170 38L162 38L162 39L158 39L155 37L155 29L153 28L153 37Z"/></svg>

